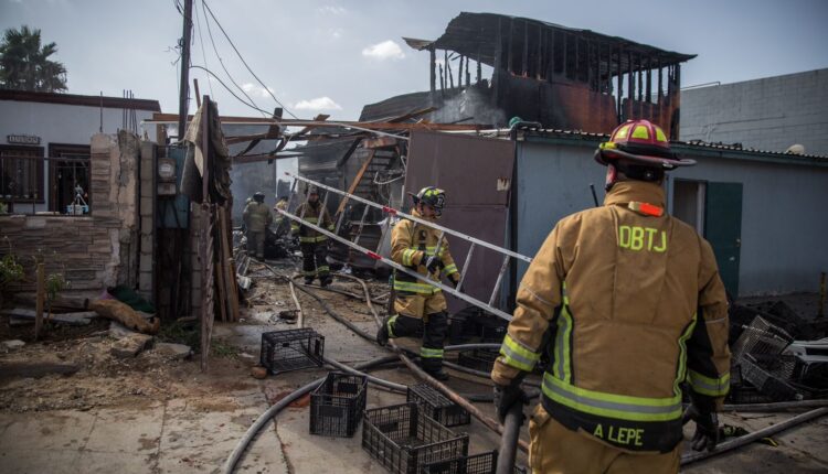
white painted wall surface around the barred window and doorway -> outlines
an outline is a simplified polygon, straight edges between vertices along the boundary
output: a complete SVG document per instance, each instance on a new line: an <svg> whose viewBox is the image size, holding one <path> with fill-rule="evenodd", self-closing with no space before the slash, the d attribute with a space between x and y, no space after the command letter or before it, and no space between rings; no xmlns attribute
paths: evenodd
<svg viewBox="0 0 828 474"><path fill-rule="evenodd" d="M152 118L152 111L136 110L138 131L144 137L146 130L150 141L156 140L156 126L141 129L141 120ZM123 110L104 108L104 133L116 133L124 122ZM9 144L9 134L30 134L41 138L39 147L49 154L50 143L89 144L92 136L99 131L100 109L98 107L66 104L25 103L0 100L0 142ZM43 172L44 204L36 204L35 212L49 208L49 166ZM18 205L29 207L25 204ZM26 208L31 213L31 208Z"/></svg>

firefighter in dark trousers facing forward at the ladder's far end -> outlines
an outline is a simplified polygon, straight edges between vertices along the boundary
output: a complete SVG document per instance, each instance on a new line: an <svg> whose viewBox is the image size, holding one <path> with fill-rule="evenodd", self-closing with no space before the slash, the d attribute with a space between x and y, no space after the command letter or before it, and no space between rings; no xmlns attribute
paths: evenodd
<svg viewBox="0 0 828 474"><path fill-rule="evenodd" d="M316 186L308 188L308 200L299 205L296 215L310 224L333 231L333 220L328 209L319 202L319 191ZM290 229L299 235L305 283L310 284L318 277L322 287L330 284L332 279L328 267L328 237L296 220L290 222Z"/></svg>

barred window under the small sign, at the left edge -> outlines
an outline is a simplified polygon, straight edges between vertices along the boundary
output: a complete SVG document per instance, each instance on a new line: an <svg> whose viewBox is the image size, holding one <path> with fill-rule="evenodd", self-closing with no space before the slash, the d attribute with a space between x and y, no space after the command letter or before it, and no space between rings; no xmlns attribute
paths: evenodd
<svg viewBox="0 0 828 474"><path fill-rule="evenodd" d="M43 147L0 146L0 200L43 203Z"/></svg>

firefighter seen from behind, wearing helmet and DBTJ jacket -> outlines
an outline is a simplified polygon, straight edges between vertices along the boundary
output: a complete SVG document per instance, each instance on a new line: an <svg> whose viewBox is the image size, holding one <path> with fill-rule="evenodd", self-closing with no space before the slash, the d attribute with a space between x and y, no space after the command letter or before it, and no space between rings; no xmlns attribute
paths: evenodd
<svg viewBox="0 0 828 474"><path fill-rule="evenodd" d="M495 403L503 417L524 402L519 383L545 353L532 472L676 473L682 422L696 421L693 449L712 450L730 387L712 248L665 214L665 171L693 162L646 120L619 126L595 158L604 206L561 219L530 265L491 373Z"/></svg>

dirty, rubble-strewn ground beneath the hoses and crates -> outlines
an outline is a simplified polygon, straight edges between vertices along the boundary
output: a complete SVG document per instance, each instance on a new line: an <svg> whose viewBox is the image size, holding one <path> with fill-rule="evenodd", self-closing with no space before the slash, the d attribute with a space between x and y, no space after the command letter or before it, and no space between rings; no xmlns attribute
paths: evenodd
<svg viewBox="0 0 828 474"><path fill-rule="evenodd" d="M290 276L296 270L290 260L272 263L282 276ZM72 375L39 378L0 374L0 463L13 466L10 472L112 472L116 464L123 464L124 472L220 472L221 464L258 413L295 388L326 374L319 368L269 376L264 380L251 376L251 368L258 362L261 334L296 327L296 321L290 317L294 303L284 278L274 278L269 270L255 262L248 276L254 286L247 292L242 320L233 324L216 323L206 374L200 371L198 354L188 359L173 359L148 348L130 358L113 355L112 348L118 338L110 333L108 321L93 320L88 326L78 327L50 326L42 341L35 343L31 326L11 327L7 317L0 319L0 341L20 338L26 342L19 349L0 354L0 365L42 362L76 369ZM369 287L382 311L386 282L371 281ZM358 283L342 278L337 278L333 288L340 292L362 293ZM312 291L369 334L375 331L373 316L363 302L335 292ZM327 356L357 364L386 354L332 321L316 300L301 291L297 294L305 311L306 326L326 336ZM157 340L194 343L198 341L194 334L185 326L162 327ZM416 383L402 369L385 369L376 375L403 385ZM486 380L458 373L453 376L450 385L458 391L490 390ZM405 401L404 396L380 390L370 389L369 394L369 407ZM308 398L300 399L269 428L262 430L237 470L320 472L330 468L325 462L326 453L336 453L342 466L338 472L384 472L360 449L359 434L350 440L308 435L307 403ZM493 416L491 403L477 403L477 407ZM127 434L110 428L96 434L104 429L102 420L123 417L123 413L128 413L127 419L139 420L135 423L141 427L140 437L132 440L127 428L121 429ZM75 434L72 423L59 430L52 425L55 417L75 420L77 425L91 423L89 431L85 437ZM755 430L789 417L788 413L735 413L724 414L722 421ZM686 435L691 434L688 429ZM459 431L471 433L471 452L497 446L498 438L477 421ZM49 456L40 456L17 444L29 435L46 444L54 439L70 440ZM526 433L523 435L526 438ZM125 448L96 448L96 437L110 438ZM778 448L754 444L683 471L828 471L828 420L809 423L776 439ZM131 449L132 444L138 448ZM113 460L117 463L113 464ZM519 460L522 463L526 457Z"/></svg>

